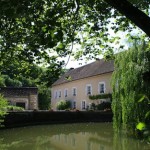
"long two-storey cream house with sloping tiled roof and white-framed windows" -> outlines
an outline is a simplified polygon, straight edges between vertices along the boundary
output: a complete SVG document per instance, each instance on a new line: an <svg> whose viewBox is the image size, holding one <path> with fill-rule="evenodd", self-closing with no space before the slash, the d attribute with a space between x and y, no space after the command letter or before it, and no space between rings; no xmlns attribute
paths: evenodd
<svg viewBox="0 0 150 150"><path fill-rule="evenodd" d="M52 85L51 107L56 110L60 100L68 100L71 101L72 108L86 110L93 102L109 101L109 99L93 101L89 96L112 93L110 82L113 71L114 61L104 59L70 69Z"/></svg>

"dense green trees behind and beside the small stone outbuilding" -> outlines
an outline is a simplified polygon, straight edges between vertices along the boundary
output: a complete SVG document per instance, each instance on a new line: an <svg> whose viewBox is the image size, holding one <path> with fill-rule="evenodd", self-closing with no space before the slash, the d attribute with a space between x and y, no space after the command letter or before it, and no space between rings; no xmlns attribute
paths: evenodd
<svg viewBox="0 0 150 150"><path fill-rule="evenodd" d="M50 87L63 72L61 65L41 67L25 61L14 61L11 64L0 65L1 87L38 87L39 109L50 108Z"/></svg>

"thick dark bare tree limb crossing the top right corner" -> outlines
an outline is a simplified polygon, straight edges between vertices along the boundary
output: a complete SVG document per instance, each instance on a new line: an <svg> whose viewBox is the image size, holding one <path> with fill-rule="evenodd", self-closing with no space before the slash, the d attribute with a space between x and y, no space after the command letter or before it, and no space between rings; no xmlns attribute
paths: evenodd
<svg viewBox="0 0 150 150"><path fill-rule="evenodd" d="M150 37L150 17L127 0L105 0Z"/></svg>

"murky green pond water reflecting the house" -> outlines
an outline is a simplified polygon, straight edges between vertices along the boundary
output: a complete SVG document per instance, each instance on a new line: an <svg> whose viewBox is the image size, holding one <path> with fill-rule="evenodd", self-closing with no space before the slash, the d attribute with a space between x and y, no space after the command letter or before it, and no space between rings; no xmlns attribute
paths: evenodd
<svg viewBox="0 0 150 150"><path fill-rule="evenodd" d="M79 123L0 130L0 150L150 150L150 145L113 133L111 123Z"/></svg>

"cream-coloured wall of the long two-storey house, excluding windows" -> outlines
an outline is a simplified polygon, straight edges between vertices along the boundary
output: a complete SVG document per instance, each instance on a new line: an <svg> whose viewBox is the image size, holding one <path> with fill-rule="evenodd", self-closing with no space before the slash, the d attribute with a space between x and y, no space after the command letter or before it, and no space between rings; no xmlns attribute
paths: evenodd
<svg viewBox="0 0 150 150"><path fill-rule="evenodd" d="M105 84L105 93L112 93L112 89L110 86L112 73L97 75L93 77L88 77L80 80L70 81L64 84L56 85L52 87L52 99L51 99L51 107L56 110L57 102L60 100L70 100L76 102L76 109L82 110L82 101L85 101L86 107L93 103L92 100L89 99L89 95L86 93L86 86L91 85L91 95L99 94L99 83ZM73 96L72 90L76 88L76 96ZM65 97L64 90L67 89L68 95ZM61 97L59 97L59 91L61 91ZM56 98L57 92L57 98ZM102 100L101 100L102 101ZM100 101L98 101L100 103Z"/></svg>

